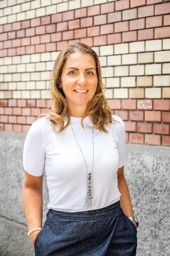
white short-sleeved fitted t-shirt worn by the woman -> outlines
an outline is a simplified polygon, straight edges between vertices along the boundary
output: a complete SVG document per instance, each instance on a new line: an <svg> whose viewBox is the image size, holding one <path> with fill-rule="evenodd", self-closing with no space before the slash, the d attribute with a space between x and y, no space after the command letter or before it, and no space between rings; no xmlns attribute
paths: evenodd
<svg viewBox="0 0 170 256"><path fill-rule="evenodd" d="M120 200L117 171L125 164L126 129L124 121L112 115L119 123L107 126L108 133L94 129L93 199L91 209L100 209ZM34 121L28 131L23 149L23 167L30 175L46 172L49 189L48 209L59 211L86 211L87 169L93 166L93 126L89 116L71 116L62 133L55 133L45 117ZM66 121L66 120L65 120ZM59 130L57 126L56 131ZM77 141L82 152L77 144ZM86 160L86 164L84 158Z"/></svg>

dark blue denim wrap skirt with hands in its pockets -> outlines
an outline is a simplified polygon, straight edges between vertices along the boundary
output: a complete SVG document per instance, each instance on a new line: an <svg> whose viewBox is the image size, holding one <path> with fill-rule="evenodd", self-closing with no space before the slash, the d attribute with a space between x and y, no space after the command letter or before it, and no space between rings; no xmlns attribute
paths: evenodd
<svg viewBox="0 0 170 256"><path fill-rule="evenodd" d="M49 209L35 239L36 256L135 256L137 229L120 200L94 210Z"/></svg>

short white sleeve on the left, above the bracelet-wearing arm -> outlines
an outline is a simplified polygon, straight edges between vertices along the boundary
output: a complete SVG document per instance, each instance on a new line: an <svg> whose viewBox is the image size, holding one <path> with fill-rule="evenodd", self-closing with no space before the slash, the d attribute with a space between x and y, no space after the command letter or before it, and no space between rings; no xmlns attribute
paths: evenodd
<svg viewBox="0 0 170 256"><path fill-rule="evenodd" d="M42 118L34 121L26 135L23 149L23 168L34 176L44 173L44 131Z"/></svg>

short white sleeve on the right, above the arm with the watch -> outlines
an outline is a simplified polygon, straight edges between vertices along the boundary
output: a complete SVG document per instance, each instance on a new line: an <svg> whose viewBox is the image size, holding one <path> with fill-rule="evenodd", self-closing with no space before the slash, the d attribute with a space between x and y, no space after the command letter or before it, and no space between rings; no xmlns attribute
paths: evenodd
<svg viewBox="0 0 170 256"><path fill-rule="evenodd" d="M115 116L114 116L115 117ZM118 136L118 150L119 150L119 168L125 165L126 160L126 128L124 121L116 116L117 121L120 121L120 124L117 124L117 136Z"/></svg>

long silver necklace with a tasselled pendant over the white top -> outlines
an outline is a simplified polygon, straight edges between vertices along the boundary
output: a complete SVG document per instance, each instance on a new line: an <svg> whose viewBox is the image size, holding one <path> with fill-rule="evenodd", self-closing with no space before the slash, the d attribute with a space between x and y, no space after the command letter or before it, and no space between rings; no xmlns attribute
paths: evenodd
<svg viewBox="0 0 170 256"><path fill-rule="evenodd" d="M71 126L71 124L70 124ZM71 129L73 131L73 128L71 126ZM74 131L73 131L73 134L75 135ZM92 128L92 135L93 135L93 128ZM75 138L76 138L76 135L75 135ZM76 139L77 141L77 139ZM77 141L78 143L78 141ZM80 145L78 143L78 146L80 148ZM80 148L81 152L82 152L82 149ZM84 158L84 155L82 153L82 156ZM86 164L86 160L84 158L84 161L85 161L85 164ZM93 139L93 163L94 163L94 139ZM91 206L92 206L92 198L93 198L93 167L92 167L92 171L88 173L88 168L87 168L87 164L86 164L86 170L87 170L87 197L86 197L86 205L87 205L87 208L88 210L91 209Z"/></svg>

